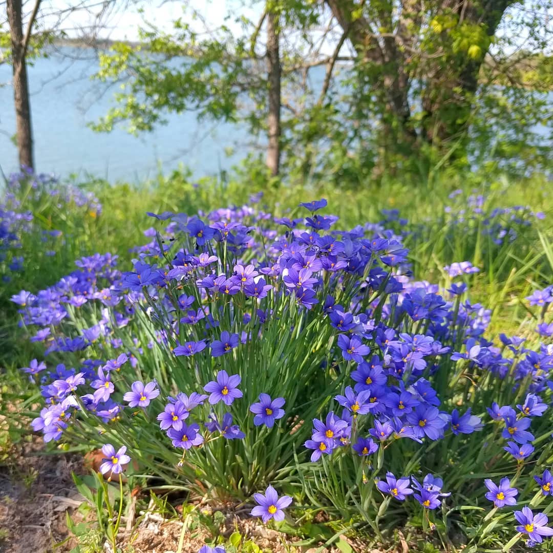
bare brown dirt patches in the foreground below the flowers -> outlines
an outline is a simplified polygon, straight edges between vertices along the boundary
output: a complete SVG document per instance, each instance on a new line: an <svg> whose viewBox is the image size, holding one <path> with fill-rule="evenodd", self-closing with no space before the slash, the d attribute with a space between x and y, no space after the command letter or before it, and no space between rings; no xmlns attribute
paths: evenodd
<svg viewBox="0 0 553 553"><path fill-rule="evenodd" d="M0 553L47 553L54 551L54 547L56 553L66 553L76 545L74 539L64 542L68 536L66 513L74 514L84 500L74 486L71 472L83 474L88 468L80 456L41 455L42 451L42 441L35 437L13 456L11 462L0 466ZM150 506L152 508L144 512L133 513L131 520L122 524L117 545L123 551L197 553L206 541L211 542L205 529L192 529L186 518L184 521L165 520L155 512L153 503ZM311 548L295 547L297 540L287 539L284 534L267 528L260 520L249 517L244 509L243 512L221 510L225 514L221 535L229 538L238 531L244 541L253 541L263 552L340 551L335 547L321 549L321 544ZM347 541L353 551L381 551ZM111 553L111 548L106 544L104 551Z"/></svg>

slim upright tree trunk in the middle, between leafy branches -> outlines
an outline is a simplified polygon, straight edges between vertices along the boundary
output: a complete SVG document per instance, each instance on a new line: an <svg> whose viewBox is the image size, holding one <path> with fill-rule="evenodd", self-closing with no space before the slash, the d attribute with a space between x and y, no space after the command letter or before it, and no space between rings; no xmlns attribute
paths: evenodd
<svg viewBox="0 0 553 553"><path fill-rule="evenodd" d="M267 66L269 81L269 117L267 166L271 175L279 174L280 166L280 55L278 15L267 14Z"/></svg>

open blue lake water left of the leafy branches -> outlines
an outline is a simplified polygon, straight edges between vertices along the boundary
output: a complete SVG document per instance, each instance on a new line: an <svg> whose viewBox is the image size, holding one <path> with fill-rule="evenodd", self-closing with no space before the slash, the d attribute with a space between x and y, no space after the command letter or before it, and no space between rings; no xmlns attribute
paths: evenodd
<svg viewBox="0 0 553 553"><path fill-rule="evenodd" d="M252 137L243 125L198 122L194 112L169 114L166 126L139 137L123 128L92 131L87 123L107 113L116 91L91 82L97 69L91 50L74 48L61 48L28 68L38 171L139 181L184 164L195 176L204 176L228 170L251 151ZM0 65L0 84L8 84L0 87L0 166L6 174L18 167L11 139L15 133L11 77L11 66Z"/></svg>

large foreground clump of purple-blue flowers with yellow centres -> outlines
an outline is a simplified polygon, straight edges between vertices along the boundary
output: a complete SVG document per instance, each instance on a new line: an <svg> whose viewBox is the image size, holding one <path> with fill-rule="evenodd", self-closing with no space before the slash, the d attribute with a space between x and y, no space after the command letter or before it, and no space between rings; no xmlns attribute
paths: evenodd
<svg viewBox="0 0 553 553"><path fill-rule="evenodd" d="M545 327L489 341L490 310L455 281L477 272L470 263L448 265L441 286L417 281L403 234L383 224L337 229L324 200L301 207L309 215L252 205L150 213L165 229L145 231L132 270L95 254L55 285L14 295L36 327L32 340L44 343L44 361L23 368L45 401L33 429L45 441L113 429L153 476L241 500L345 463L336 478L359 478L352 489L413 495L428 517L461 497L453 475L468 457L472 473L491 475L478 494L487 488L496 508L518 499L514 471L549 494L551 474L530 474L526 461L550 432ZM544 321L550 292L529 298ZM436 451L450 450L463 453L447 459L447 474ZM105 455L117 474L126 452ZM425 473L422 483L413 476ZM321 484L317 493L328 492ZM254 497L252 514L264 521L281 520L291 501L271 486ZM341 499L352 509L376 500ZM524 528L545 527L524 516Z"/></svg>

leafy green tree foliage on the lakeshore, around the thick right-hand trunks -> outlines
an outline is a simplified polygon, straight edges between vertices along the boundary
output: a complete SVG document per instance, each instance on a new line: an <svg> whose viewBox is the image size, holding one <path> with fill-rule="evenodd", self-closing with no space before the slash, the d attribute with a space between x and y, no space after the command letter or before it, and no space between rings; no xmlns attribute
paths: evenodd
<svg viewBox="0 0 553 553"><path fill-rule="evenodd" d="M345 18L338 18L345 45L337 62L321 54L317 29L332 17L321 3L255 4L280 19L280 142L291 179L359 186L383 178L384 168L414 182L444 164L515 175L550 168L550 64L540 54L550 38L540 23L549 0L517 17L512 3L494 0L462 9L407 2L401 10L387 0L345 0L337 3ZM92 128L150 131L165 114L194 110L246 122L255 137L267 131L262 22L234 13L228 17L241 34L225 25L200 33L193 4L188 15L195 25L181 18L171 32L149 26L142 45L116 44L101 55L96 78L122 90ZM521 35L530 51L515 48ZM339 38L327 38L326 50Z"/></svg>

